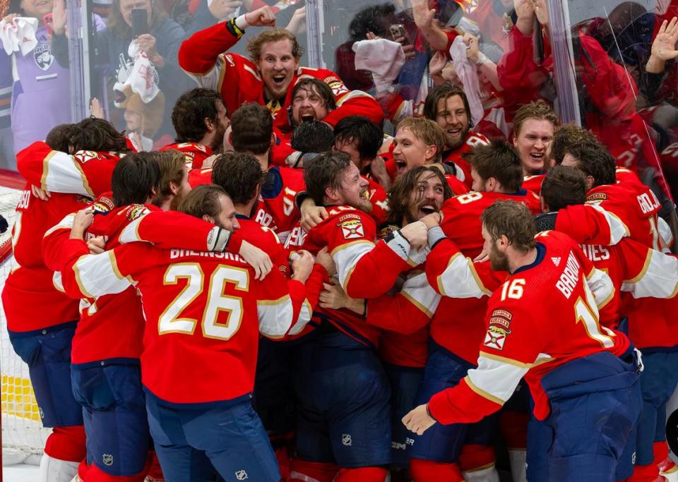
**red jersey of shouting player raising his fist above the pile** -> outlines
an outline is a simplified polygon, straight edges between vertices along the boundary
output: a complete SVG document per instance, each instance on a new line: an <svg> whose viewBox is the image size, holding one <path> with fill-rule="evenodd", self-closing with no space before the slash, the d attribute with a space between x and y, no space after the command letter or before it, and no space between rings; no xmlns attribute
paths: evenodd
<svg viewBox="0 0 678 482"><path fill-rule="evenodd" d="M383 121L383 112L371 95L348 90L336 73L326 68L299 67L282 102L266 100L263 80L252 61L226 51L237 41L225 27L217 23L184 40L179 49L179 65L202 87L218 90L231 114L244 102L258 102L273 114L273 125L280 131L291 131L287 108L292 105L292 88L302 78L317 78L326 83L335 97L337 109L324 122L334 126L345 116L365 116L376 124Z"/></svg>

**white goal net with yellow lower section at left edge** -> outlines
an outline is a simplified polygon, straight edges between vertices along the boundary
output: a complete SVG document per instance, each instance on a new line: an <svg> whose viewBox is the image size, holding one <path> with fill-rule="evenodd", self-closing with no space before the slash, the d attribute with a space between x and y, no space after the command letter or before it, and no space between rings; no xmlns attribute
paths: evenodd
<svg viewBox="0 0 678 482"><path fill-rule="evenodd" d="M11 228L21 191L0 186L0 214L9 229L0 235L0 291L12 268ZM2 301L0 300L0 306ZM40 411L28 378L28 366L14 353L7 335L4 308L0 309L0 372L2 405L2 464L39 464L42 448L51 432L42 428Z"/></svg>

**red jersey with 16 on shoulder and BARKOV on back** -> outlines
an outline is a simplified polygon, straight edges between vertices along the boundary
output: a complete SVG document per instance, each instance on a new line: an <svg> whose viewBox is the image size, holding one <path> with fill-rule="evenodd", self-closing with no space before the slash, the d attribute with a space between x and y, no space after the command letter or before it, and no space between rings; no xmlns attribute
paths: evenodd
<svg viewBox="0 0 678 482"><path fill-rule="evenodd" d="M549 414L543 375L599 351L621 356L629 349L626 336L598 323L597 303L614 289L609 277L568 236L545 231L537 240L535 263L513 273L489 299L478 367L430 399L437 421L479 421L499 410L523 377L534 414L543 420Z"/></svg>

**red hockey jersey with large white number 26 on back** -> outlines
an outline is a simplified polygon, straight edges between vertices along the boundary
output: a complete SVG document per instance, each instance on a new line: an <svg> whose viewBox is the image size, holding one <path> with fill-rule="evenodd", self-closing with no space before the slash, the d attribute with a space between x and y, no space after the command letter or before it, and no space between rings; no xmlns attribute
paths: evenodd
<svg viewBox="0 0 678 482"><path fill-rule="evenodd" d="M102 296L136 284L146 320L141 381L165 402L218 402L251 392L259 334L280 338L295 328L282 273L259 281L238 255L131 243L80 256L83 247L69 240L64 287Z"/></svg>

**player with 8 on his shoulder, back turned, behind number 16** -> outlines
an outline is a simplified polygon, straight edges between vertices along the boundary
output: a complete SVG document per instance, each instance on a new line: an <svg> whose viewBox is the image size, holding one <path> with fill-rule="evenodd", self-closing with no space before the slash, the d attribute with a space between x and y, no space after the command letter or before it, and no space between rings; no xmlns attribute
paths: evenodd
<svg viewBox="0 0 678 482"><path fill-rule="evenodd" d="M476 191L446 200L442 208L441 228L464 255L474 258L482 251L480 215L495 200L525 203L535 214L540 212L540 207L539 198L534 193L521 190L520 157L508 143L494 140L490 145L479 145L470 151L468 159ZM443 269L447 264L444 264ZM446 284L434 281L436 276L432 278L429 277L429 282L443 295L443 299L431 320L429 359L417 393L417 403L426 401L444 387L455 385L475 366L477 347L484 334L482 316L487 305L485 296L492 292L484 287L471 298L451 298ZM450 480L462 480L458 466L460 457L473 459L472 463L465 464L465 468L477 468L494 462L489 435L487 427L480 424L455 424L436 426L423 437L412 436L413 443L408 449L412 474L417 481L432 481L444 471ZM462 445L467 438L472 440L470 445L473 447L465 447L466 451L472 449L474 455L463 452ZM444 440L444 443L436 440ZM511 440L510 446L521 447L522 443ZM521 462L515 458L524 455L524 452L513 452L512 466L518 466ZM475 463L479 459L484 464Z"/></svg>

